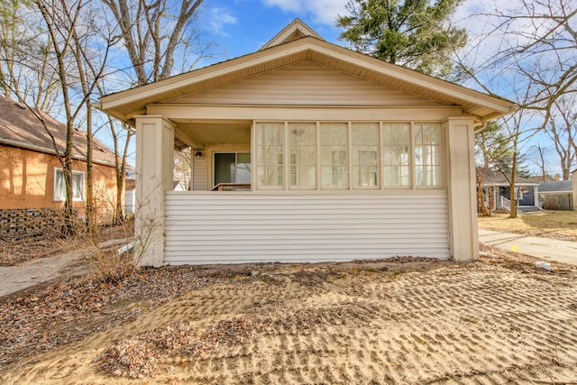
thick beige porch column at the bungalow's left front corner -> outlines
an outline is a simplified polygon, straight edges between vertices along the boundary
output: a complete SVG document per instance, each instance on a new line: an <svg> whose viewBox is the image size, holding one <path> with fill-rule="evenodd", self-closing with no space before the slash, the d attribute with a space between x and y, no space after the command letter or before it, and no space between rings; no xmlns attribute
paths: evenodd
<svg viewBox="0 0 577 385"><path fill-rule="evenodd" d="M136 255L141 266L164 264L164 191L172 189L174 124L136 116Z"/></svg>

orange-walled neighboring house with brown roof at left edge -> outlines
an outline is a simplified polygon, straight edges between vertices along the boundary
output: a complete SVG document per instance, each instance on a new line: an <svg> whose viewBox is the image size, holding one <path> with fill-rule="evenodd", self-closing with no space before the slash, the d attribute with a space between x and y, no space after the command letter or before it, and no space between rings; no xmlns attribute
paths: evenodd
<svg viewBox="0 0 577 385"><path fill-rule="evenodd" d="M63 154L66 125L42 116ZM25 105L0 97L0 210L64 207L64 173L50 134ZM73 208L81 220L86 214L86 148L86 132L75 130ZM107 222L116 194L114 152L94 140L93 162L96 219Z"/></svg>

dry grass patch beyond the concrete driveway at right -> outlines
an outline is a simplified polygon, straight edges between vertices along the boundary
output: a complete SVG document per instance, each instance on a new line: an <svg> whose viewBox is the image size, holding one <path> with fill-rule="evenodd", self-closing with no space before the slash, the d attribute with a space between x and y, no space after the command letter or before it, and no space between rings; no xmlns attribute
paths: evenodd
<svg viewBox="0 0 577 385"><path fill-rule="evenodd" d="M509 218L508 214L480 216L479 228L577 241L577 211L539 211Z"/></svg>

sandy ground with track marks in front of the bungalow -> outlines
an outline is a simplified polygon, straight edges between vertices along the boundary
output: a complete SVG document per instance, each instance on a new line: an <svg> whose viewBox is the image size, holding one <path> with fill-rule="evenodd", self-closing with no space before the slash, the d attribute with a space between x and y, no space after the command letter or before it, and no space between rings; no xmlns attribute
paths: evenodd
<svg viewBox="0 0 577 385"><path fill-rule="evenodd" d="M255 265L0 370L3 383L577 381L577 271Z"/></svg>

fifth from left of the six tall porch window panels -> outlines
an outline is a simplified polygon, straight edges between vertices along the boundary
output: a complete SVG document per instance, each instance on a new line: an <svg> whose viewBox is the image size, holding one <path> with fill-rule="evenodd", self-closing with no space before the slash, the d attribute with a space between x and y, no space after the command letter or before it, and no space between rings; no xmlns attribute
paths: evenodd
<svg viewBox="0 0 577 385"><path fill-rule="evenodd" d="M383 184L385 187L410 187L409 132L409 124L384 124L382 127Z"/></svg>

